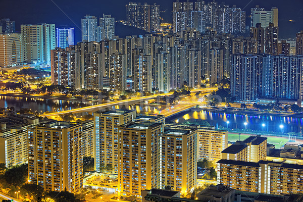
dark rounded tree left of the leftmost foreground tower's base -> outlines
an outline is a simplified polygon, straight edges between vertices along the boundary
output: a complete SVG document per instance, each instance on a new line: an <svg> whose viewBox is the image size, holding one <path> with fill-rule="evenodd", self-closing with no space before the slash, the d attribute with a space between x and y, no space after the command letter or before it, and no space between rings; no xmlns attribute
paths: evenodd
<svg viewBox="0 0 303 202"><path fill-rule="evenodd" d="M4 177L9 184L20 186L25 182L27 174L27 164L22 164L20 166L14 166L11 169L7 170L4 174Z"/></svg>

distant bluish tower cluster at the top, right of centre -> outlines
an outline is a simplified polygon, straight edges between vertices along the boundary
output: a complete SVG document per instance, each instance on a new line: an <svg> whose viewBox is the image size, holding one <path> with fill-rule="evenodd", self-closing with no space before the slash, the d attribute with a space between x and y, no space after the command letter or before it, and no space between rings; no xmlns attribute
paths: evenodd
<svg viewBox="0 0 303 202"><path fill-rule="evenodd" d="M243 34L246 32L246 13L233 5L218 2L177 2L173 3L173 32L180 33L187 27L205 33L213 28L218 33Z"/></svg>

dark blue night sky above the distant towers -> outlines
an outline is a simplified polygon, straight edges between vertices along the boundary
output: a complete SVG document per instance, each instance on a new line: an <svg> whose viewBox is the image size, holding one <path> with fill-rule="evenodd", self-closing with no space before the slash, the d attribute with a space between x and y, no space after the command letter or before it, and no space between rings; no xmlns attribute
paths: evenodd
<svg viewBox="0 0 303 202"><path fill-rule="evenodd" d="M127 0L2 0L0 4L0 19L10 18L16 21L16 31L20 31L21 24L55 23L56 27L62 25L73 26L75 27L76 41L79 41L81 40L81 30L77 26L81 27L81 18L83 16L90 14L100 17L105 13L111 14L116 20L126 20L125 5L129 2ZM138 0L133 2L157 3L160 5L161 11L163 11L160 15L164 18L164 21L172 21L171 11L174 0ZM303 0L218 0L218 2L225 2L230 6L237 5L241 8L246 6L244 9L246 16L250 15L250 8L254 8L256 5L260 5L266 10L270 10L271 7L277 7L279 9L279 38L294 37L296 32L303 30ZM289 20L293 20L293 22L289 22ZM248 24L248 18L246 22ZM117 26L116 34L122 33L123 29L123 26Z"/></svg>

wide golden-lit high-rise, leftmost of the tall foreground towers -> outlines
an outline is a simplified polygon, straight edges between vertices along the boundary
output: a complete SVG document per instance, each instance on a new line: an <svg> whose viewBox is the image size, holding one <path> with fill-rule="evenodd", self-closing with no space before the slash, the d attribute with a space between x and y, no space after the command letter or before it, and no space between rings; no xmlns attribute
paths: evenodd
<svg viewBox="0 0 303 202"><path fill-rule="evenodd" d="M45 191L83 186L82 124L49 121L28 129L28 181Z"/></svg>

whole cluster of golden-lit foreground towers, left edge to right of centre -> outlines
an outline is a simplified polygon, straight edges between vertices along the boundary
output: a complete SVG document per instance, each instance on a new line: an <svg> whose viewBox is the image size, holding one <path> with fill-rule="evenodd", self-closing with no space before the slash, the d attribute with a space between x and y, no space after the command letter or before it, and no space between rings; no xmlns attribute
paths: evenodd
<svg viewBox="0 0 303 202"><path fill-rule="evenodd" d="M28 180L44 190L76 192L83 186L83 157L93 157L96 171L110 167L118 175L119 194L141 197L151 188L186 193L197 184L196 162L219 161L227 131L211 126L165 123L162 115L110 109L93 121L70 123L34 115L0 119L8 168L28 163Z"/></svg>

